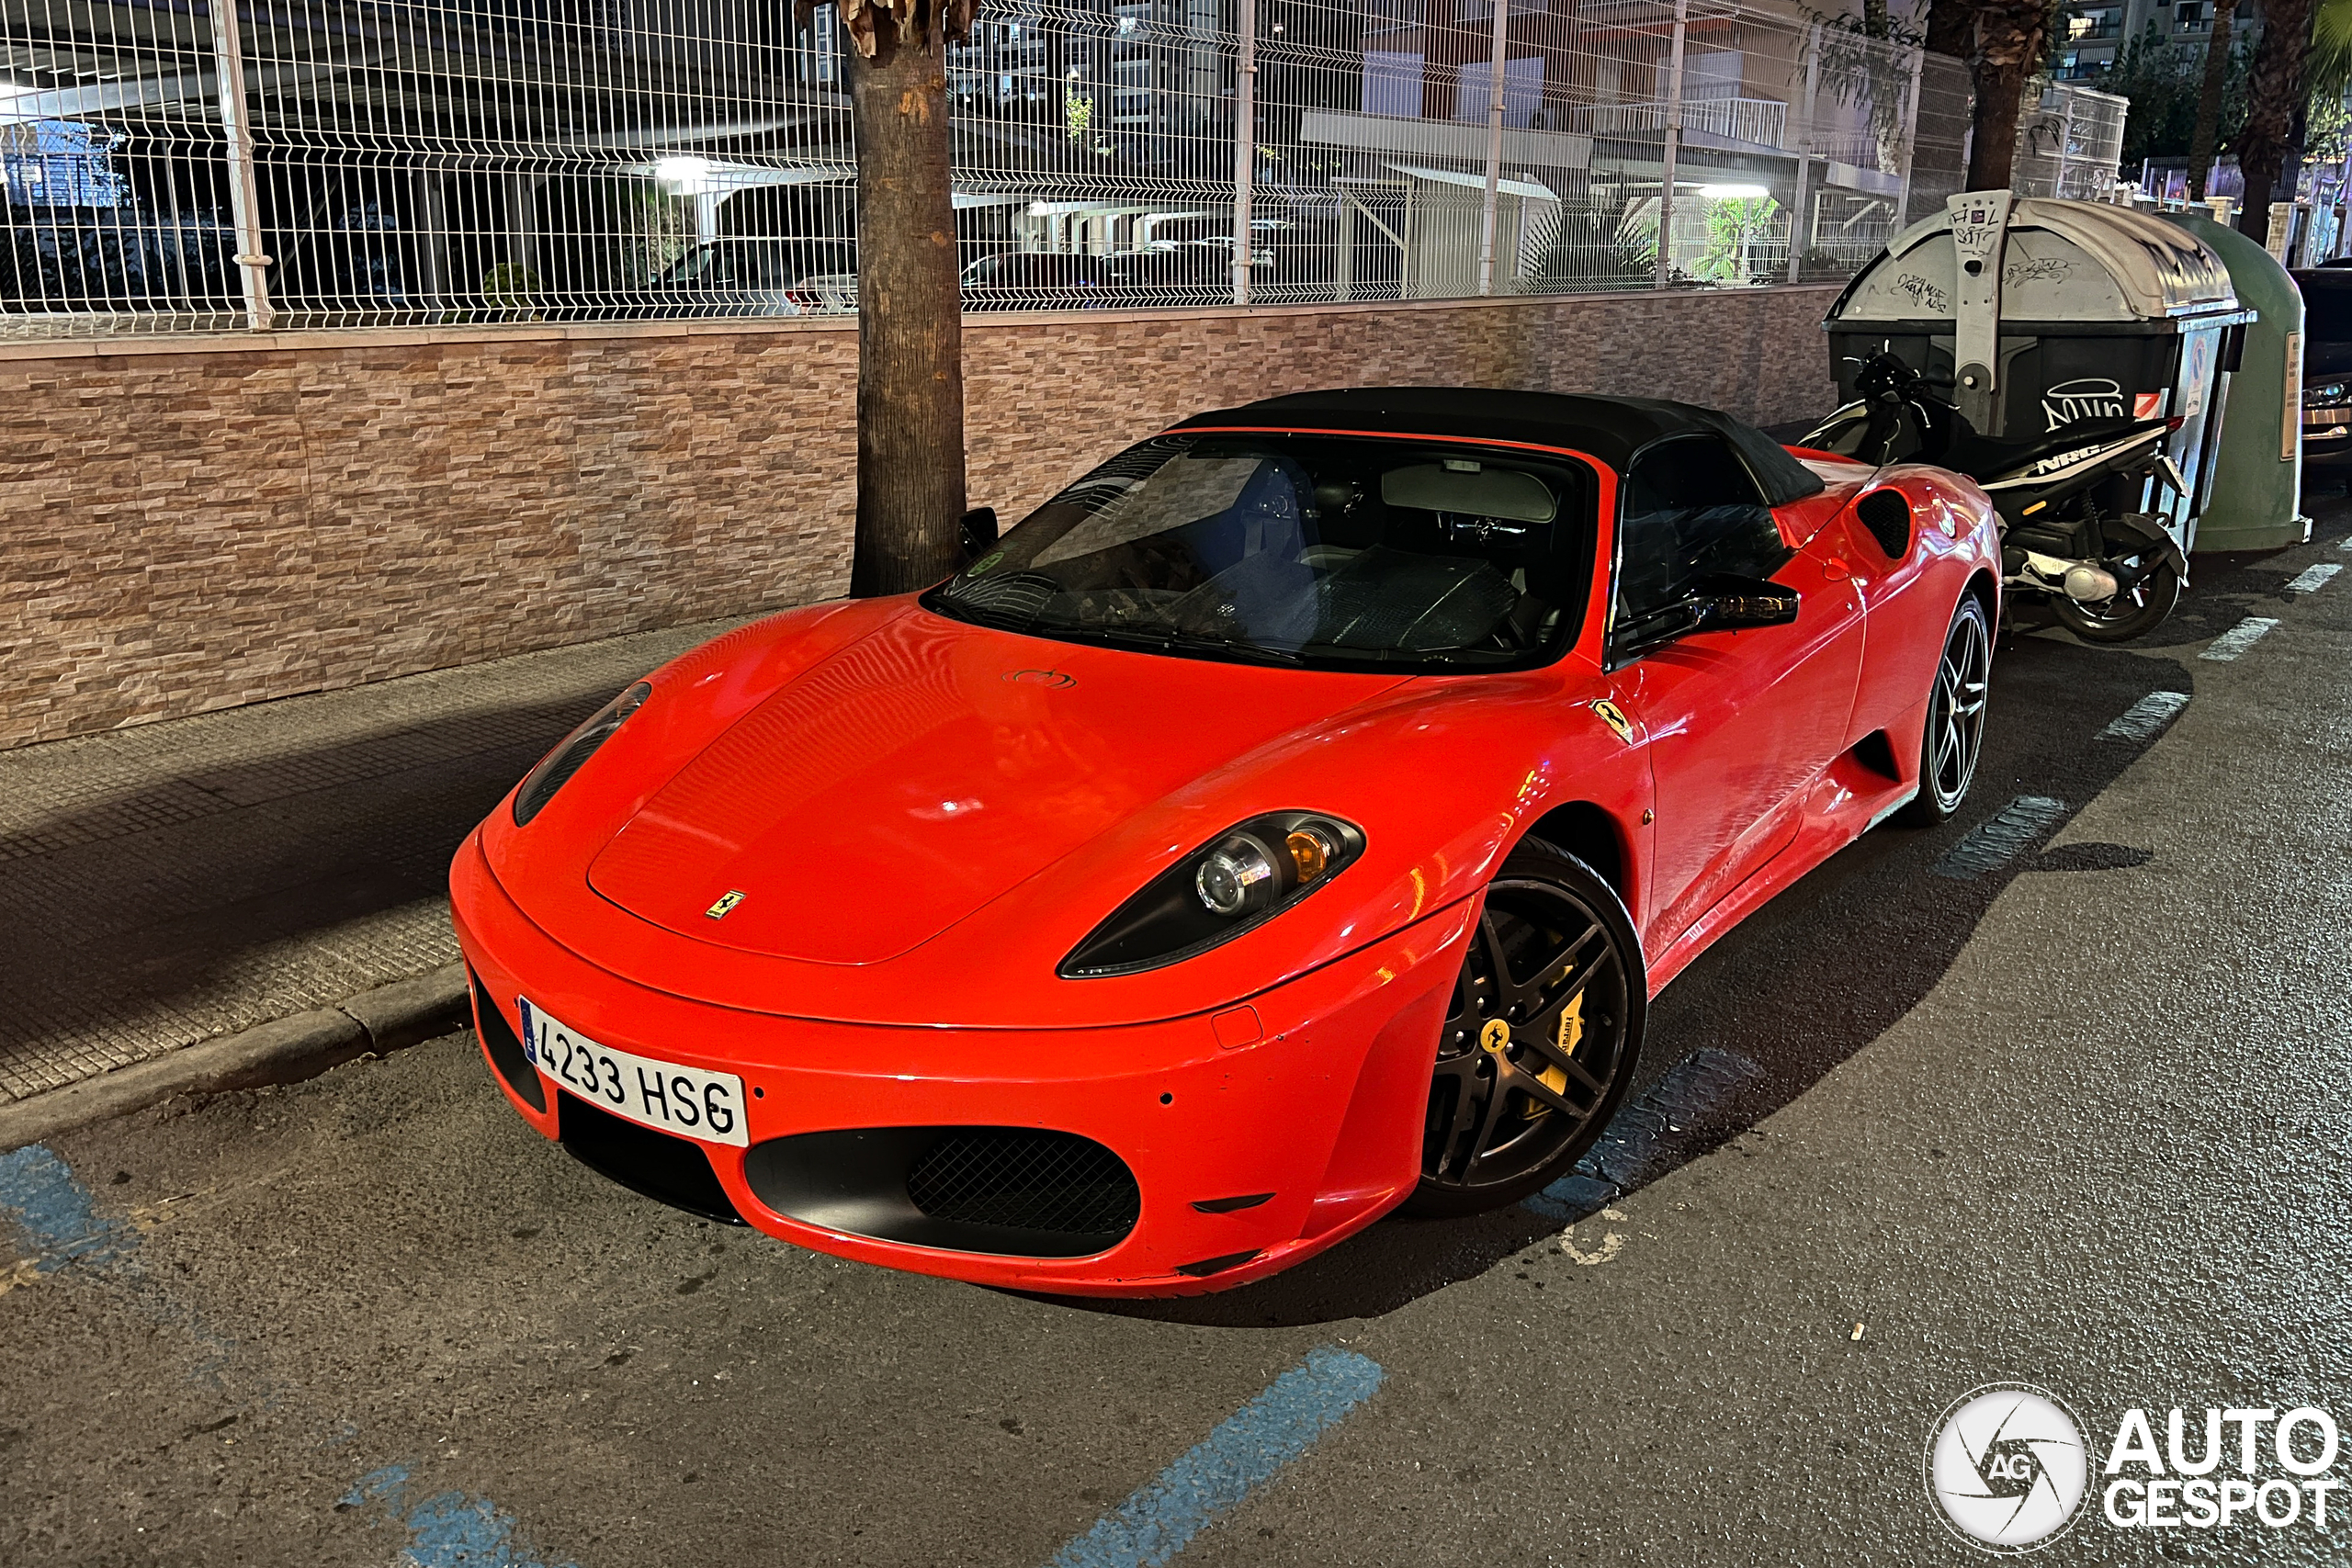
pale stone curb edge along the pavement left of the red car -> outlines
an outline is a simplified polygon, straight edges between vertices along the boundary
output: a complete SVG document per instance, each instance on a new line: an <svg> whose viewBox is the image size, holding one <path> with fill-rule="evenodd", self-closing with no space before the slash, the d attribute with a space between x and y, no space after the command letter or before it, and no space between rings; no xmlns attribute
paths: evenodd
<svg viewBox="0 0 2352 1568"><path fill-rule="evenodd" d="M466 964L445 964L346 997L336 1006L256 1023L0 1105L0 1152L162 1105L172 1095L299 1084L355 1056L400 1051L466 1023Z"/></svg>

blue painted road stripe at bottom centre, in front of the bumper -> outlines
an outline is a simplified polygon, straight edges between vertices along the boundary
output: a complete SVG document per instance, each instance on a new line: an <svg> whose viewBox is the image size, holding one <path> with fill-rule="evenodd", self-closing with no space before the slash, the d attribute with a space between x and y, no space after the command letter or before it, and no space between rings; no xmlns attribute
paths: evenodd
<svg viewBox="0 0 2352 1568"><path fill-rule="evenodd" d="M1352 1349L1310 1349L1303 1363L1056 1552L1049 1568L1160 1568L1371 1399L1385 1375L1378 1361Z"/></svg>

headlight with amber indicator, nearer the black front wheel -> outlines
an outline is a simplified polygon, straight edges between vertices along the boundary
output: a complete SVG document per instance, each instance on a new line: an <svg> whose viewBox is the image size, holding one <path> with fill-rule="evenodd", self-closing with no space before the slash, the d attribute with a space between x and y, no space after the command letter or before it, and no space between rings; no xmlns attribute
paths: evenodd
<svg viewBox="0 0 2352 1568"><path fill-rule="evenodd" d="M1237 823L1152 877L1061 961L1065 980L1131 976L1232 940L1331 882L1364 830L1319 811Z"/></svg>

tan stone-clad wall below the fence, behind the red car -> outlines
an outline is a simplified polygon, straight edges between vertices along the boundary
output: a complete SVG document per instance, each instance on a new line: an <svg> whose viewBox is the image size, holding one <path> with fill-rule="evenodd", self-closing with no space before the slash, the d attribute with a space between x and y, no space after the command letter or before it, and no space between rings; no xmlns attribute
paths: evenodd
<svg viewBox="0 0 2352 1568"><path fill-rule="evenodd" d="M971 501L1322 386L1804 418L1832 294L974 317ZM814 320L0 346L0 748L837 595L854 381Z"/></svg>

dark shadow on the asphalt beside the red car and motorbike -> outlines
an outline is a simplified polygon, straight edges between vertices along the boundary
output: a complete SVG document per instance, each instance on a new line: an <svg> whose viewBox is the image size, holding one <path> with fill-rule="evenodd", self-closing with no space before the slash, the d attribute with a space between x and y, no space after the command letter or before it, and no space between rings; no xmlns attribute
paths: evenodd
<svg viewBox="0 0 2352 1568"><path fill-rule="evenodd" d="M2319 501L2319 498L2314 498ZM2319 501L2321 541L2345 531L2343 503ZM1994 661L1994 712L1976 790L1933 830L1879 827L1780 893L1684 971L1649 1013L1644 1067L1628 1107L1578 1175L1529 1204L1472 1220L1388 1218L1261 1284L1176 1300L1065 1300L1120 1316L1214 1328L1305 1326L1381 1316L1472 1279L1569 1232L1625 1192L1755 1133L1943 980L1992 900L2025 875L2100 875L2145 865L2145 844L2049 842L2194 696L2197 644L2286 599L2270 555L2199 557L2197 590L2166 623L2164 649L2093 646L2018 614ZM2166 712L2171 708L2171 712ZM2152 724L2117 724L2124 715ZM2020 797L2063 802L2034 816L1994 870L1959 875L1943 858Z"/></svg>

